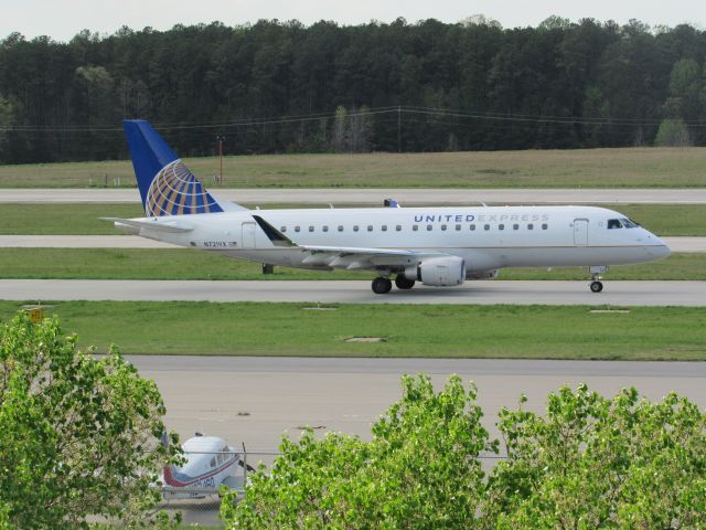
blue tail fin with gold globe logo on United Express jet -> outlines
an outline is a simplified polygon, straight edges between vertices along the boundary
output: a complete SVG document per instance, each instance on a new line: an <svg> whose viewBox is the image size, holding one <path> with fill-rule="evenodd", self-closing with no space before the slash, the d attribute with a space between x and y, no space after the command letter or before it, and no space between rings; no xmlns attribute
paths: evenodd
<svg viewBox="0 0 706 530"><path fill-rule="evenodd" d="M147 216L223 211L149 123L126 119L122 126Z"/></svg>

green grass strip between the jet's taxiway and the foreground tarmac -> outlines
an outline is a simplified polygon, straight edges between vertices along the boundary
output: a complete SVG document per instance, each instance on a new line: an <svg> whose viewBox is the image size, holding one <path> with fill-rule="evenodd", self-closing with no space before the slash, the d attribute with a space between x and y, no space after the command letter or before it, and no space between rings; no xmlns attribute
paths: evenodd
<svg viewBox="0 0 706 530"><path fill-rule="evenodd" d="M9 318L20 301L0 303ZM704 360L705 308L580 306L55 303L99 352L306 357ZM603 308L605 309L605 308ZM346 342L379 337L382 342Z"/></svg>

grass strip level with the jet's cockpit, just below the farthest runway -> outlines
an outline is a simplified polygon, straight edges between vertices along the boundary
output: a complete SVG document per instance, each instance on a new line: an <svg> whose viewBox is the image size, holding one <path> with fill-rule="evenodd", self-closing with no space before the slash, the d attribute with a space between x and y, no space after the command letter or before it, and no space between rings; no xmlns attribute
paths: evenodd
<svg viewBox="0 0 706 530"><path fill-rule="evenodd" d="M266 208L302 208L271 204ZM307 205L303 208L315 208ZM321 205L328 208L328 205ZM706 235L706 206L674 204L611 204L607 208L642 223L659 235ZM113 223L98 218L138 218L140 204L0 204L0 234L107 234Z"/></svg>

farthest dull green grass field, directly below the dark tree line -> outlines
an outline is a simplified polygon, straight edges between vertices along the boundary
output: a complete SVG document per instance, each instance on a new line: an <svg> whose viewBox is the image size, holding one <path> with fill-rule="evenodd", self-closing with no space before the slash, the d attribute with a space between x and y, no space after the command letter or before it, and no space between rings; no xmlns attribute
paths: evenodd
<svg viewBox="0 0 706 530"><path fill-rule="evenodd" d="M704 188L706 148L270 155L186 159L207 187ZM119 180L119 183L118 183ZM133 187L128 160L0 166L0 188Z"/></svg>

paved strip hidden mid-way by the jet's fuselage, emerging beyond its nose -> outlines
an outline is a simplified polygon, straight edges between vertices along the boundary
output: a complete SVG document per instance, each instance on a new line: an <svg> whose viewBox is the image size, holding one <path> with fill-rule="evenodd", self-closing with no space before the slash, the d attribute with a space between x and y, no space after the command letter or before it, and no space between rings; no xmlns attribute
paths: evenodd
<svg viewBox="0 0 706 530"><path fill-rule="evenodd" d="M706 252L706 237L662 237L672 252ZM179 248L138 235L0 235L0 247Z"/></svg>

